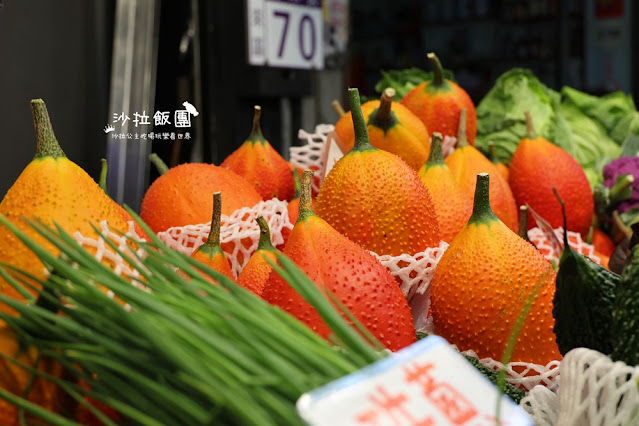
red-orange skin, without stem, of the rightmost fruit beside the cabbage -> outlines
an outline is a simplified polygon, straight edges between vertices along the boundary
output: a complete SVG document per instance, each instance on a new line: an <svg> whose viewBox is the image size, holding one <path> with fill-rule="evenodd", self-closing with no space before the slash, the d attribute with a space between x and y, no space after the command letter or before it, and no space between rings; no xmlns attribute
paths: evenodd
<svg viewBox="0 0 639 426"><path fill-rule="evenodd" d="M566 205L568 229L582 236L588 233L594 215L592 190L579 163L561 147L541 136L523 138L510 160L508 182L518 205L529 204L558 228L563 226L563 215L554 186ZM531 217L528 227L534 226Z"/></svg>

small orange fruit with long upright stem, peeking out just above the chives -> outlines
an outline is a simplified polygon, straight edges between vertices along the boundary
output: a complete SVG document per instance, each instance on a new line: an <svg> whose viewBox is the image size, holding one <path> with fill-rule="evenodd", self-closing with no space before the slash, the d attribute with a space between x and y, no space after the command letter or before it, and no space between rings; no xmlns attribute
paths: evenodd
<svg viewBox="0 0 639 426"><path fill-rule="evenodd" d="M222 194L218 191L213 194L213 215L211 217L211 230L204 244L191 253L191 257L205 264L206 266L223 273L231 280L235 281L235 275L231 270L231 265L220 245L220 227L222 217ZM217 283L215 279L202 272L208 280Z"/></svg>

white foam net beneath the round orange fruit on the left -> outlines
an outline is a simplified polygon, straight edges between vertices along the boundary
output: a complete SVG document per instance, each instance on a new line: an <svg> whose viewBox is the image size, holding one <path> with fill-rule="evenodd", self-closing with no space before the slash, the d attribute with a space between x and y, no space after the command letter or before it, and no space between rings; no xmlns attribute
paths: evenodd
<svg viewBox="0 0 639 426"><path fill-rule="evenodd" d="M260 241L260 227L255 221L257 216L264 217L268 223L273 245L278 247L284 243L285 230L293 229L287 205L288 202L273 198L260 201L253 207L238 209L230 216L222 215L220 243L231 262L231 270L235 277L257 250ZM176 226L158 233L158 238L172 249L190 256L196 248L206 242L210 231L211 222Z"/></svg>

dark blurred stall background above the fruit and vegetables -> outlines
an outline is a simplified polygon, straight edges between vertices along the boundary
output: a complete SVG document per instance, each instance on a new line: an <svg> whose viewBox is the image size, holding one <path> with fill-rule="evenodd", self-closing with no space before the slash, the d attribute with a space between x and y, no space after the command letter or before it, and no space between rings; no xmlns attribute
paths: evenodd
<svg viewBox="0 0 639 426"><path fill-rule="evenodd" d="M46 102L67 156L96 180L107 158L110 195L139 208L158 176L151 152L171 166L219 164L260 105L264 135L287 158L299 129L337 120L331 102L347 105L347 87L377 96L381 70L430 70L430 51L475 103L512 67L557 90L639 92L639 7L630 0L0 5L3 195L33 157L34 98ZM177 127L178 111L188 126Z"/></svg>

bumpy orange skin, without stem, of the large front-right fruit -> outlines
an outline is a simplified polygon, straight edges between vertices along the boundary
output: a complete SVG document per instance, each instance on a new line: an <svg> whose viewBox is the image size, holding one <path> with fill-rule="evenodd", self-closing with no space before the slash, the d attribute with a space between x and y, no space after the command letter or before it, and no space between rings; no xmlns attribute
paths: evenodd
<svg viewBox="0 0 639 426"><path fill-rule="evenodd" d="M500 220L469 222L450 243L431 282L435 332L462 351L501 360L541 280L511 360L545 365L561 359L553 332L555 278L541 253Z"/></svg>

